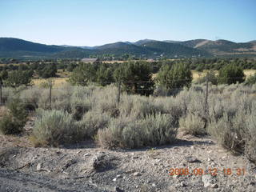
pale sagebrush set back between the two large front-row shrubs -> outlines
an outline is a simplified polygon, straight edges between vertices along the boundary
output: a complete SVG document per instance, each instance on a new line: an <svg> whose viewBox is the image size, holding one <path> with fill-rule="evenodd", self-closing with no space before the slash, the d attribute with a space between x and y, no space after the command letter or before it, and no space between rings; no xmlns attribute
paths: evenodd
<svg viewBox="0 0 256 192"><path fill-rule="evenodd" d="M82 120L79 122L79 135L82 138L94 138L98 130L105 128L109 121L110 115L90 110L83 115Z"/></svg>

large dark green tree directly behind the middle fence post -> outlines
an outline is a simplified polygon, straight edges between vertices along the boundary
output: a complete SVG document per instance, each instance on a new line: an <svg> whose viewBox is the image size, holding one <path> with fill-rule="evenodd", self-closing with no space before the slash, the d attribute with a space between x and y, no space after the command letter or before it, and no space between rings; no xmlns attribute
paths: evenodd
<svg viewBox="0 0 256 192"><path fill-rule="evenodd" d="M122 82L130 94L150 95L154 91L151 67L147 62L124 62L114 70L115 82Z"/></svg>

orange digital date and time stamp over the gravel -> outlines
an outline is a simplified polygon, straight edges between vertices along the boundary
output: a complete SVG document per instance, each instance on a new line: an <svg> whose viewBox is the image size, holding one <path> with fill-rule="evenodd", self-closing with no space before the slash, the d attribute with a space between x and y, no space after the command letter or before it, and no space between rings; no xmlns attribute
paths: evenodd
<svg viewBox="0 0 256 192"><path fill-rule="evenodd" d="M237 168L237 169L231 169L231 168L208 168L208 169L202 169L202 168L194 168L190 169L188 167L186 168L170 168L168 170L168 173L170 176L174 175L181 175L181 176L187 176L187 175L195 175L195 176L201 176L204 174L210 174L212 176L215 176L217 174L225 174L225 175L237 175L242 176L246 174L245 168Z"/></svg>

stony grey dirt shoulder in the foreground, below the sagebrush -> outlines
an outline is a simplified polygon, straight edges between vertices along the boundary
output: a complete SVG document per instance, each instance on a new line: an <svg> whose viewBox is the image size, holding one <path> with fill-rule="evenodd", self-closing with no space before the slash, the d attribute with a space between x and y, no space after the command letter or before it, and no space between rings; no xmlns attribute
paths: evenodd
<svg viewBox="0 0 256 192"><path fill-rule="evenodd" d="M256 190L255 165L208 137L188 135L170 146L138 150L105 150L92 142L61 149L10 143L0 148L1 191ZM204 173L170 176L172 168ZM218 169L216 175L206 174L209 168Z"/></svg>

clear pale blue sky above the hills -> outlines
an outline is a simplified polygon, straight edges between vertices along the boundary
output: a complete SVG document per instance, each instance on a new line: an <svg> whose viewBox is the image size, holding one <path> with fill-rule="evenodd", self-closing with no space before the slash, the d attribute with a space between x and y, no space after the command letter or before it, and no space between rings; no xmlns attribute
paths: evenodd
<svg viewBox="0 0 256 192"><path fill-rule="evenodd" d="M256 39L256 0L0 0L0 37L97 46L150 38Z"/></svg>

